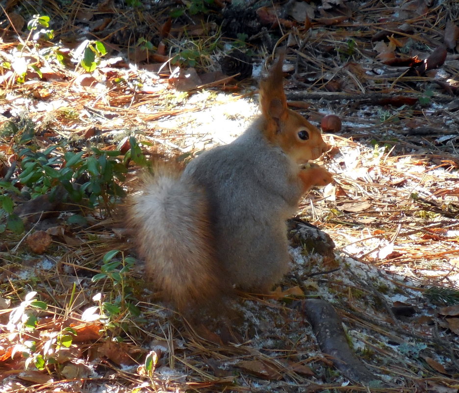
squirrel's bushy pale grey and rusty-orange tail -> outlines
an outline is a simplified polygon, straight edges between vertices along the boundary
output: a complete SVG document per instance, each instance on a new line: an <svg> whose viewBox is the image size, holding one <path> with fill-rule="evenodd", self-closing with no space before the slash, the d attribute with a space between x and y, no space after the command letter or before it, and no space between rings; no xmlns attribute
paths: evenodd
<svg viewBox="0 0 459 393"><path fill-rule="evenodd" d="M204 190L160 169L146 175L128 204L128 225L147 279L181 312L214 304L224 288Z"/></svg>

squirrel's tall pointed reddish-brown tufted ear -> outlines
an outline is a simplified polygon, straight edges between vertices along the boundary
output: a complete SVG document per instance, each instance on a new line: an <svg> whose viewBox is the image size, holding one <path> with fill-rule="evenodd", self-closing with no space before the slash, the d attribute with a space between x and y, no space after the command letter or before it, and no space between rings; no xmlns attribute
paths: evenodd
<svg viewBox="0 0 459 393"><path fill-rule="evenodd" d="M266 120L274 120L276 123L285 116L287 110L287 100L282 85L283 57L282 52L268 77L260 82L259 89L261 112Z"/></svg>

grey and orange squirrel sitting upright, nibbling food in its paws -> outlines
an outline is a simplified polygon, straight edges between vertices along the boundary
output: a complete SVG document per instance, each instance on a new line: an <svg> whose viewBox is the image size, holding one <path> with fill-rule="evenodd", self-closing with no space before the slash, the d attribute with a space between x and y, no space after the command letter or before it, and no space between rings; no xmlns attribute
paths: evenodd
<svg viewBox="0 0 459 393"><path fill-rule="evenodd" d="M179 312L225 308L235 289L268 292L288 271L286 220L306 191L332 181L307 163L329 146L287 108L282 62L260 82L261 115L243 134L181 173L158 168L128 203L147 277Z"/></svg>

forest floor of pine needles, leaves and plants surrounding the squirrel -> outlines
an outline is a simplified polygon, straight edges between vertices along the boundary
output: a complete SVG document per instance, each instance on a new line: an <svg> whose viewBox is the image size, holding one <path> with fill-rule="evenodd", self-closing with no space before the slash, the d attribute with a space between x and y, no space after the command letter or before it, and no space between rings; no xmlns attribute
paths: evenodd
<svg viewBox="0 0 459 393"><path fill-rule="evenodd" d="M39 4L0 2L1 393L458 392L458 2ZM279 47L332 146L298 217L336 247L292 225L272 295L194 329L112 214L139 168L243 132ZM374 380L324 353L310 298Z"/></svg>

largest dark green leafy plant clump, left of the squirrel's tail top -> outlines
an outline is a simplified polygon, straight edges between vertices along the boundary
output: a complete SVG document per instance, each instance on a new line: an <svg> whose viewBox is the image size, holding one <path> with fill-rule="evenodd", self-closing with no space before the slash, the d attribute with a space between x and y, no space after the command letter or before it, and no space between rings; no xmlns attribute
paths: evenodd
<svg viewBox="0 0 459 393"><path fill-rule="evenodd" d="M10 181L0 182L0 233L6 229L20 234L24 231L22 220L14 214L15 194L20 195L26 187L31 198L47 194L50 199L70 200L89 208L110 211L125 191L118 184L125 180L128 161L148 166L135 137L129 137L130 149L124 155L118 150L102 151L95 147L66 152L67 142L40 150L34 144L34 130L28 123L18 127L11 124L4 133L17 133L13 151L18 159L17 174ZM69 223L84 223L83 217L75 214Z"/></svg>

